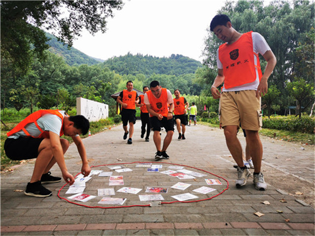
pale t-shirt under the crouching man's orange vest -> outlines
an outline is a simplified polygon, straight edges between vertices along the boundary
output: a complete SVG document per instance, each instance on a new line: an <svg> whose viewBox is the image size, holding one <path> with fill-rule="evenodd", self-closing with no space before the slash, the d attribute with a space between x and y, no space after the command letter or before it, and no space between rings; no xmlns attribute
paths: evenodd
<svg viewBox="0 0 315 236"><path fill-rule="evenodd" d="M65 111L59 111L63 117L65 116ZM60 135L60 131L62 129L62 120L59 116L53 115L53 114L46 114L40 117L37 120L37 124L43 131L51 131L54 132L57 135ZM40 135L40 130L37 129L36 125L34 123L28 124L25 129L27 132L29 132L30 135L37 137ZM19 138L19 137L26 137L27 135L24 133L24 131L19 131L17 133L14 133L13 135L9 136L8 138Z"/></svg>

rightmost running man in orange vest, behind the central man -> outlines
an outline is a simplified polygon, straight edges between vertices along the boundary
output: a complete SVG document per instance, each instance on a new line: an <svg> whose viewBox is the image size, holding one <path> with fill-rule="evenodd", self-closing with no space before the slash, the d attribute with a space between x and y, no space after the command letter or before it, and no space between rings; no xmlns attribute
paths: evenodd
<svg viewBox="0 0 315 236"><path fill-rule="evenodd" d="M178 131L178 139L186 139L185 131L187 125L186 113L187 108L189 107L188 101L184 97L181 97L181 93L178 89L174 90L175 98L173 99L174 103L174 115L176 128ZM182 132L181 132L182 127Z"/></svg>

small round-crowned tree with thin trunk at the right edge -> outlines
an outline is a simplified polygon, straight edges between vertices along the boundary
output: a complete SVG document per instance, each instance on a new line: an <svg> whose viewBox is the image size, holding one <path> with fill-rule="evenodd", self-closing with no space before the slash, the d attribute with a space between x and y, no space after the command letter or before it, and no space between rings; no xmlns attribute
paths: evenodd
<svg viewBox="0 0 315 236"><path fill-rule="evenodd" d="M305 107L314 100L314 87L305 82L302 78L295 78L291 83L288 83L287 90L289 94L297 101L297 114L301 118L301 106L304 103Z"/></svg>

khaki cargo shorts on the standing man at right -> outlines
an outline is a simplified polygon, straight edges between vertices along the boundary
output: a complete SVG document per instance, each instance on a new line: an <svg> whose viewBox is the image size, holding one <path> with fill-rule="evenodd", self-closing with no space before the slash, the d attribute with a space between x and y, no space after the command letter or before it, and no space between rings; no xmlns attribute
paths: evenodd
<svg viewBox="0 0 315 236"><path fill-rule="evenodd" d="M255 90L223 92L220 99L221 126L242 126L244 130L261 130L261 98Z"/></svg>

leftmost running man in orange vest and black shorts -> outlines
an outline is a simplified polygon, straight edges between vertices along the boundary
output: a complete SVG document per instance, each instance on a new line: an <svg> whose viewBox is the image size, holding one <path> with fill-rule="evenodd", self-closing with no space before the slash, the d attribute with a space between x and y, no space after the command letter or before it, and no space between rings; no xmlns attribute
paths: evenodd
<svg viewBox="0 0 315 236"><path fill-rule="evenodd" d="M124 89L117 98L117 102L122 105L122 121L123 129L125 131L124 139L127 138L129 133L128 144L132 144L133 125L136 123L136 104L139 102L138 94L133 90L132 81L128 81ZM129 122L129 132L127 125Z"/></svg>

